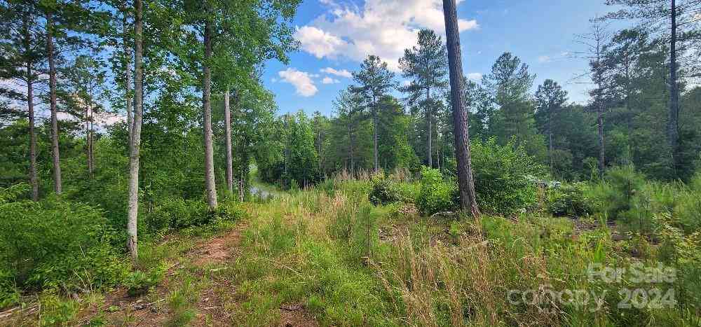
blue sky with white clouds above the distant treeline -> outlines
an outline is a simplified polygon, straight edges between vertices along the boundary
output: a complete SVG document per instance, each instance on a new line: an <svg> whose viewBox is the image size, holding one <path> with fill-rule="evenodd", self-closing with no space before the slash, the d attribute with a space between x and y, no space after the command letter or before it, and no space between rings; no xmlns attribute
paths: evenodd
<svg viewBox="0 0 701 327"><path fill-rule="evenodd" d="M571 102L584 103L588 85L574 77L587 62L574 55L584 50L576 35L613 9L604 0L458 0L463 71L479 81L499 55L510 52L537 75L534 90L550 78ZM401 82L397 60L416 44L418 30L433 29L444 39L442 0L304 0L292 25L299 50L286 65L268 62L263 75L280 113L329 115L367 55L379 55Z"/></svg>

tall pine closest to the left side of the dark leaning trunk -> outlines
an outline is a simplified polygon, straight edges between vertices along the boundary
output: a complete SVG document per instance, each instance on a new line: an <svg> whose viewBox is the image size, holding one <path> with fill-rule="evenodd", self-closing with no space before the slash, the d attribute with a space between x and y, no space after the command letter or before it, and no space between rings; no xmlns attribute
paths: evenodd
<svg viewBox="0 0 701 327"><path fill-rule="evenodd" d="M430 29L422 29L418 32L418 46L404 50L404 57L399 60L402 76L412 78L409 85L402 91L409 93L409 103L414 103L421 95L425 94L423 111L426 116L426 161L429 167L433 167L433 107L435 102L431 99L431 90L444 88L447 85L448 61L446 48L435 32Z"/></svg>

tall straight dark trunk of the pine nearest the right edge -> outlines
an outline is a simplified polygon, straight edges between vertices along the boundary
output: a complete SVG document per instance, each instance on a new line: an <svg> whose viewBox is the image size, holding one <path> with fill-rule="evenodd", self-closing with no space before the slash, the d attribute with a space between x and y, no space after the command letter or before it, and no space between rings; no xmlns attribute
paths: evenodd
<svg viewBox="0 0 701 327"><path fill-rule="evenodd" d="M669 43L669 118L667 139L672 150L672 168L676 174L679 160L679 90L676 85L676 2L672 0L672 41Z"/></svg>

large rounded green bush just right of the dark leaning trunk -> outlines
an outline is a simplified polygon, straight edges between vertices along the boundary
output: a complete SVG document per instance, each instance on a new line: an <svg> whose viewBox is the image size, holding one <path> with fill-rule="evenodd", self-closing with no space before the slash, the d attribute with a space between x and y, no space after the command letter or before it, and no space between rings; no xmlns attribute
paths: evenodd
<svg viewBox="0 0 701 327"><path fill-rule="evenodd" d="M538 202L538 190L527 176L540 175L542 167L524 148L515 148L512 142L500 146L490 139L472 141L470 149L480 210L510 215Z"/></svg>

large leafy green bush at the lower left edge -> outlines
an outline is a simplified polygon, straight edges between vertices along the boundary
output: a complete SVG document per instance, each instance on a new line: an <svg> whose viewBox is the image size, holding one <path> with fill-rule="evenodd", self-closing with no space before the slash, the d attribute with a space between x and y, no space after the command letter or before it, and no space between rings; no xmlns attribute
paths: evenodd
<svg viewBox="0 0 701 327"><path fill-rule="evenodd" d="M0 193L0 287L85 290L114 285L128 271L113 245L117 233L99 209L53 197L13 201Z"/></svg>

